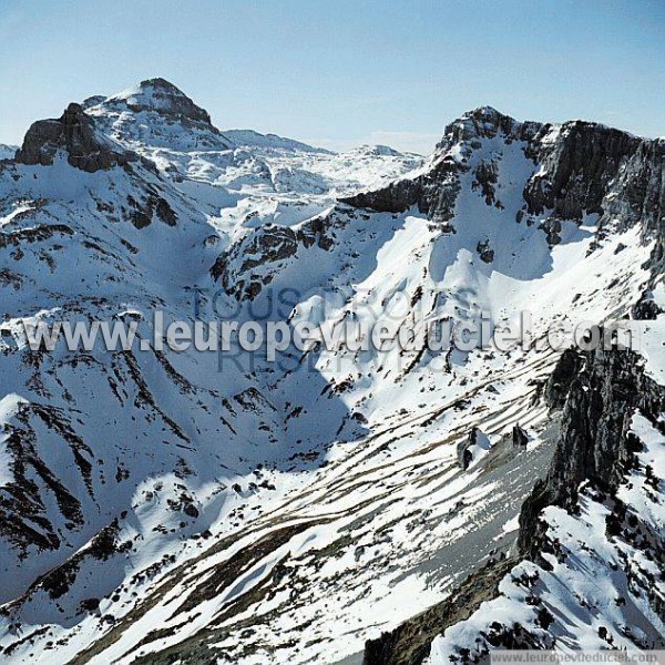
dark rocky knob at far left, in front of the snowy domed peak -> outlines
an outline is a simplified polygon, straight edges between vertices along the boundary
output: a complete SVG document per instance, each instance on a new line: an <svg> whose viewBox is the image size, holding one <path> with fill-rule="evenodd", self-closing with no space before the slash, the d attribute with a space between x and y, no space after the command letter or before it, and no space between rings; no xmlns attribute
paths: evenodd
<svg viewBox="0 0 665 665"><path fill-rule="evenodd" d="M21 164L47 166L53 163L59 150L68 153L68 162L82 171L93 173L123 165L136 158L131 153L114 151L94 132L92 119L80 104L70 104L59 120L40 120L33 123L17 151Z"/></svg>

